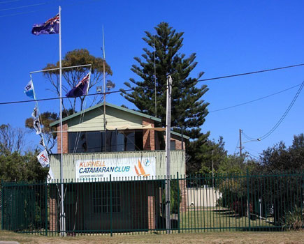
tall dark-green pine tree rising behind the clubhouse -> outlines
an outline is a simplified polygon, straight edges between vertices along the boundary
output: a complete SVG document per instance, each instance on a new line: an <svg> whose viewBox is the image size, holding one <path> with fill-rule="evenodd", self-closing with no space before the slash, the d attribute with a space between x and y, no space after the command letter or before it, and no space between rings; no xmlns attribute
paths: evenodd
<svg viewBox="0 0 304 244"><path fill-rule="evenodd" d="M208 102L205 102L202 97L208 88L206 85L196 86L203 72L196 78L189 77L197 65L196 54L193 53L189 57L180 54L183 32L176 32L168 23L161 22L155 30L156 35L145 31L146 36L143 40L148 48L143 48L143 59L134 58L138 65L133 65L131 68L141 80L130 79L131 84L125 82L124 84L133 91L131 93L122 91L122 96L136 105L140 112L159 117L161 126L165 126L166 80L167 76L171 75L173 79L171 126L173 130L183 132L191 139L199 139L201 143L204 143L208 133L203 134L200 127L208 114ZM194 147L197 149L199 146Z"/></svg>

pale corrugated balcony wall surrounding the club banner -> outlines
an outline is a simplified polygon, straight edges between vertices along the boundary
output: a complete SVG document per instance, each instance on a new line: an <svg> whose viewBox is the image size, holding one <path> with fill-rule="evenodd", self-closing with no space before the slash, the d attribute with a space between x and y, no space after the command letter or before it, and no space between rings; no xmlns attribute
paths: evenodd
<svg viewBox="0 0 304 244"><path fill-rule="evenodd" d="M55 175L55 179L60 179L59 154L50 155L50 165ZM68 153L64 154L64 179L75 179L76 160L102 160L103 158L148 158L156 159L156 174L164 176L166 174L166 153L165 151L131 151L115 153ZM182 150L171 151L171 175L185 174L185 153Z"/></svg>

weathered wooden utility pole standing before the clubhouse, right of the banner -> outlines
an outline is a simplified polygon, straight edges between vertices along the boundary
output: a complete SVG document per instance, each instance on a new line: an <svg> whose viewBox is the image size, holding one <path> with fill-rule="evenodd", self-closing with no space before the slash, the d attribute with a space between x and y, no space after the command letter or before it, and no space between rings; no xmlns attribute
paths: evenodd
<svg viewBox="0 0 304 244"><path fill-rule="evenodd" d="M166 106L166 229L167 234L170 234L171 220L170 220L170 139L171 139L171 75L167 77L167 106Z"/></svg>

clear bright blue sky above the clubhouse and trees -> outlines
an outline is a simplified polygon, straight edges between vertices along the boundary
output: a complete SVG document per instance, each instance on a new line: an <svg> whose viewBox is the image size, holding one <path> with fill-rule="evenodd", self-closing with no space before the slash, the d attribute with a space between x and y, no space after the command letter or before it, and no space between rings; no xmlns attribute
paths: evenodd
<svg viewBox="0 0 304 244"><path fill-rule="evenodd" d="M41 4L34 6L36 4ZM30 7L19 8L22 6ZM181 52L197 55L198 65L192 73L204 71L203 78L304 63L303 1L0 1L0 102L27 100L23 94L29 72L59 59L57 35L31 35L34 23L45 22L62 7L62 53L87 48L102 56L102 26L106 40L106 59L113 70L115 89L125 89L124 82L133 77L133 57L146 47L144 31L154 33L159 22L168 22L184 32ZM7 8L15 8L6 10ZM24 13L31 12L31 13ZM21 15L15 15L22 13ZM303 82L304 66L257 75L205 82L209 87L203 99L210 111L254 100ZM34 75L38 98L55 96L41 75ZM250 137L266 134L287 109L298 88L249 105L208 114L202 129L210 139L224 137L229 153L236 151L238 130ZM118 93L108 102L133 108ZM268 146L280 142L291 144L294 135L303 132L301 93L288 116L270 137L248 142L245 149L258 155ZM59 111L59 102L40 102L42 111ZM24 127L34 104L0 105L0 123ZM29 144L38 143L29 135ZM245 141L247 139L244 139ZM37 142L36 142L37 141Z"/></svg>

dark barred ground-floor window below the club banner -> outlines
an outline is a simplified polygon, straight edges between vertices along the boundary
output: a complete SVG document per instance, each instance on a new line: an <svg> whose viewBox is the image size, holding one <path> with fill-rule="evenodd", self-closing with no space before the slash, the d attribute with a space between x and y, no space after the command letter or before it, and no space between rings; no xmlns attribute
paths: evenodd
<svg viewBox="0 0 304 244"><path fill-rule="evenodd" d="M120 185L112 183L112 190L110 190L110 184L103 183L99 189L93 191L93 211L94 213L110 213L111 204L112 212L120 213Z"/></svg>

